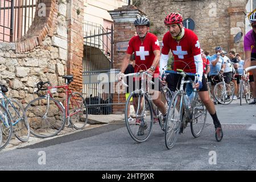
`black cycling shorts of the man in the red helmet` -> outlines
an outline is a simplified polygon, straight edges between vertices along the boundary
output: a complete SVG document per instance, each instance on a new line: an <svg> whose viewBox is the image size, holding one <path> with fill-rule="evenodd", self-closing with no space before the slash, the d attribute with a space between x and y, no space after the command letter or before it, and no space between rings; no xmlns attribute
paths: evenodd
<svg viewBox="0 0 256 182"><path fill-rule="evenodd" d="M192 80L195 80L194 76L187 76L185 77L185 80L188 80L188 78L191 78ZM175 92L177 89L180 89L180 84L181 84L181 75L177 75L175 73L170 73L166 76L166 82L168 84L168 88L172 91ZM203 91L208 91L207 88L207 81L205 79L205 77L203 76L202 78L202 84L203 84L203 88L201 88L199 90L199 92L203 92ZM183 89L185 90L185 85L183 86Z"/></svg>

